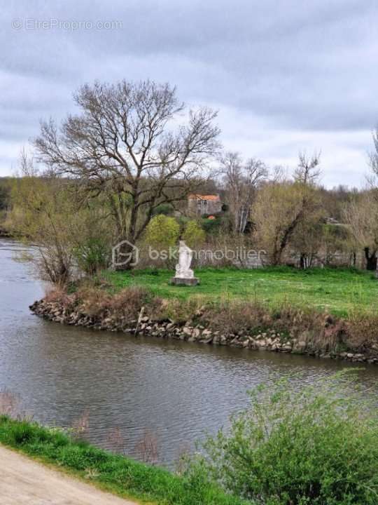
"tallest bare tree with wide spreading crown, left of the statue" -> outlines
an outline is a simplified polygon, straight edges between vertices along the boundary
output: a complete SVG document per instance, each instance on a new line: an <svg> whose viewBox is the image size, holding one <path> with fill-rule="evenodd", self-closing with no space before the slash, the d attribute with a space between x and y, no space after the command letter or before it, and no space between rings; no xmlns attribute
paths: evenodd
<svg viewBox="0 0 378 505"><path fill-rule="evenodd" d="M96 82L74 100L80 112L59 130L51 120L41 123L38 159L75 177L85 194L106 194L116 241L135 243L155 208L182 201L207 178L219 147L216 112L190 110L177 126L185 107L176 88L151 81Z"/></svg>

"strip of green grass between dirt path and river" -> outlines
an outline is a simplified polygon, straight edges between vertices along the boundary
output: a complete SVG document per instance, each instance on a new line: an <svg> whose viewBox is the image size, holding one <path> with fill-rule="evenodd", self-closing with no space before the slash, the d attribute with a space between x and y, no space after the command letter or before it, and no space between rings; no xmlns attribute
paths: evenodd
<svg viewBox="0 0 378 505"><path fill-rule="evenodd" d="M203 474L184 478L157 466L148 466L36 423L0 416L0 443L40 462L57 466L86 482L118 494L161 505L246 505L206 482ZM22 471L22 469L20 469Z"/></svg>

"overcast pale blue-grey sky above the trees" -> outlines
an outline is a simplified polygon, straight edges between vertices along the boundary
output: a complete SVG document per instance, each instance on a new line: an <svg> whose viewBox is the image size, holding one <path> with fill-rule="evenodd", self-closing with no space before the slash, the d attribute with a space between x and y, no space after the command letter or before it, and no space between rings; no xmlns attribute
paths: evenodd
<svg viewBox="0 0 378 505"><path fill-rule="evenodd" d="M377 0L18 0L0 11L0 175L39 119L73 111L80 84L149 78L218 109L227 150L290 168L300 150L321 150L323 184L364 184Z"/></svg>

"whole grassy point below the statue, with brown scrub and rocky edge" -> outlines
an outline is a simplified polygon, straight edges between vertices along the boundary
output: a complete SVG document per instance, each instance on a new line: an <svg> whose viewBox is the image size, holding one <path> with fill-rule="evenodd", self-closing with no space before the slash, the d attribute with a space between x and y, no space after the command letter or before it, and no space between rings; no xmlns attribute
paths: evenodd
<svg viewBox="0 0 378 505"><path fill-rule="evenodd" d="M48 293L31 309L89 328L378 362L378 281L372 273L202 269L201 284L190 287L171 285L171 276L158 269L106 271L69 293Z"/></svg>

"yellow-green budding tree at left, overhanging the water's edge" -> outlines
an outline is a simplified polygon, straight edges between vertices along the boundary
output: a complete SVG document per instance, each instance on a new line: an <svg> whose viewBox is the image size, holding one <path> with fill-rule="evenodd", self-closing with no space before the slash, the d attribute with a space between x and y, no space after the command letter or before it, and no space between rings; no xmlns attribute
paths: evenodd
<svg viewBox="0 0 378 505"><path fill-rule="evenodd" d="M33 246L20 259L31 262L43 280L57 285L66 285L79 269L94 273L106 267L113 230L102 201L85 205L76 198L76 184L41 176L25 149L19 166L22 177L13 183L7 227Z"/></svg>

